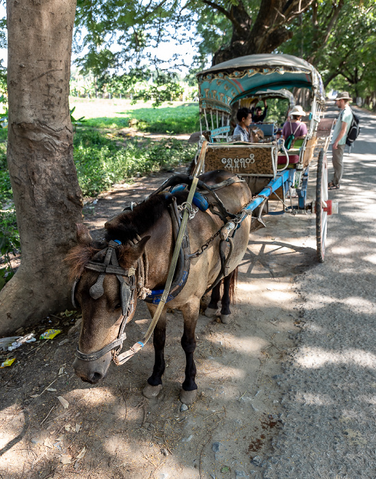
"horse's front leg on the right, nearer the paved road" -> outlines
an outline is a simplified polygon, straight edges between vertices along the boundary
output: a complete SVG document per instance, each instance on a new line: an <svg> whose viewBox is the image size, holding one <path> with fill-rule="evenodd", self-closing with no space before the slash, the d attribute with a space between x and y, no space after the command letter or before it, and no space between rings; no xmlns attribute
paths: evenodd
<svg viewBox="0 0 376 479"><path fill-rule="evenodd" d="M185 380L180 390L180 401L183 404L192 404L197 398L196 364L193 354L196 350L196 324L200 311L200 299L193 298L182 311L184 331L181 346L185 352Z"/></svg>

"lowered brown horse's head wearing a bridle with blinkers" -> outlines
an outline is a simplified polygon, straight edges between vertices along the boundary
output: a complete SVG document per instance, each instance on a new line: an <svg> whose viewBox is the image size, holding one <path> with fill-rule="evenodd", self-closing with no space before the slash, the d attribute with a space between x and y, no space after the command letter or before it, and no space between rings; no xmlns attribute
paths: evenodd
<svg viewBox="0 0 376 479"><path fill-rule="evenodd" d="M137 262L149 238L127 244L98 243L85 226L77 224L77 246L68 261L75 277L72 302L82 311L73 368L83 381L95 384L103 379L122 347L124 329L137 302Z"/></svg>

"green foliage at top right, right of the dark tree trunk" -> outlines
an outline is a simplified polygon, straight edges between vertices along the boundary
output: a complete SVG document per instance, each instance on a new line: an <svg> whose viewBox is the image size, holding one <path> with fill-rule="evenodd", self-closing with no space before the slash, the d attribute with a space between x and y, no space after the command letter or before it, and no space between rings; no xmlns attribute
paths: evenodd
<svg viewBox="0 0 376 479"><path fill-rule="evenodd" d="M312 62L325 86L366 96L376 90L376 5L373 0L321 0L293 25L284 53ZM332 83L331 83L332 82Z"/></svg>

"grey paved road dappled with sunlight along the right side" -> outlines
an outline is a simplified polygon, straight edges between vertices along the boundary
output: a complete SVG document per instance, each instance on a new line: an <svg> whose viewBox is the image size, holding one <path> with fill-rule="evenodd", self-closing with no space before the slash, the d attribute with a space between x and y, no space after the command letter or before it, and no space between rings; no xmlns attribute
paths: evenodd
<svg viewBox="0 0 376 479"><path fill-rule="evenodd" d="M284 427L252 477L376 478L376 116L359 116L340 190L330 192L340 213L325 263L297 279L304 326L279 383Z"/></svg>

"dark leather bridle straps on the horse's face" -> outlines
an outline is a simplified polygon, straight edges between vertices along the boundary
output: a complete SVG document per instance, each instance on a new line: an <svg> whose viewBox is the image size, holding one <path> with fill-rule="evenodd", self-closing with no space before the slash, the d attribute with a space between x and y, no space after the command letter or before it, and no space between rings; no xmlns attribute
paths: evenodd
<svg viewBox="0 0 376 479"><path fill-rule="evenodd" d="M92 352L90 354L85 354L81 352L77 347L75 356L82 361L96 361L100 357L104 356L107 352L112 350L112 359L116 363L116 357L120 350L122 349L122 344L124 339L126 339L126 333L124 331L126 325L126 319L129 318L129 315L133 313L134 309L134 295L135 295L135 285L136 285L136 278L135 278L135 268L129 268L128 270L124 270L124 268L120 268L118 259L116 257L116 247L121 244L120 241L117 239L115 241L110 241L107 248L102 250L105 252L105 259L103 263L100 261L89 261L85 265L86 270L98 272L98 279L90 288L90 296L93 299L98 299L100 296L103 296L105 290L103 289L103 281L105 279L106 274L115 274L116 278L118 278L120 282L120 298L121 298L121 307L122 307L122 322L120 324L120 329L118 333L117 339L112 341L110 344L107 344L104 348L100 349L99 351ZM126 276L126 279L124 279ZM75 280L72 287L72 304L73 306L77 307L77 303L75 302L75 289L77 283L79 282L80 278ZM140 347L144 346L140 343Z"/></svg>

